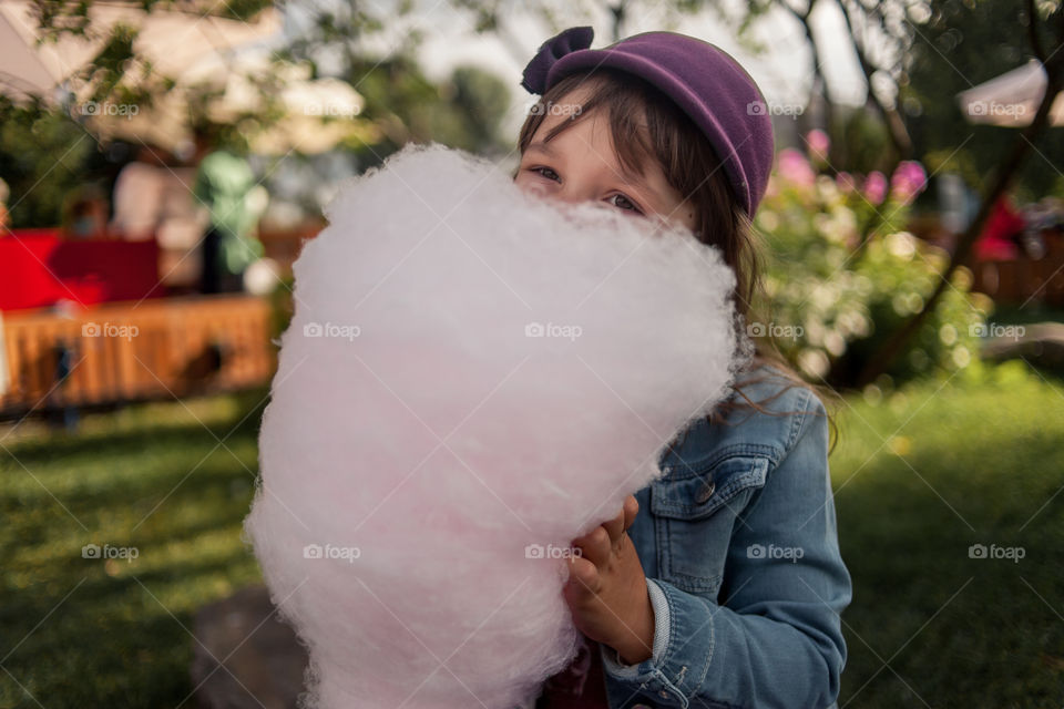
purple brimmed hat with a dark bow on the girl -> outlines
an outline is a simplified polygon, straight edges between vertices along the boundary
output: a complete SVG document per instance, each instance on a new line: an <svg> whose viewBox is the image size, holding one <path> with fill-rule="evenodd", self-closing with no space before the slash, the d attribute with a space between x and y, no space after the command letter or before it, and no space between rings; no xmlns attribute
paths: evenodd
<svg viewBox="0 0 1064 709"><path fill-rule="evenodd" d="M648 81L695 122L717 156L736 198L751 217L773 167L773 123L750 75L719 48L675 32L644 32L589 49L590 27L573 27L540 45L521 85L543 95L562 76L598 66Z"/></svg>

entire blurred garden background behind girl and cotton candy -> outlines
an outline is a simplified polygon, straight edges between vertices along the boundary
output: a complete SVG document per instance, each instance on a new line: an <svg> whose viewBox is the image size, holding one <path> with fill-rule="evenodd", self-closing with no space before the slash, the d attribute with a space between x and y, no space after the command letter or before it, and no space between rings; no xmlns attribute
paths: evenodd
<svg viewBox="0 0 1064 709"><path fill-rule="evenodd" d="M241 538L347 177L510 172L521 71L667 29L766 94L771 338L842 395L840 707L1064 705L1060 0L0 0L0 707L288 707Z"/></svg>

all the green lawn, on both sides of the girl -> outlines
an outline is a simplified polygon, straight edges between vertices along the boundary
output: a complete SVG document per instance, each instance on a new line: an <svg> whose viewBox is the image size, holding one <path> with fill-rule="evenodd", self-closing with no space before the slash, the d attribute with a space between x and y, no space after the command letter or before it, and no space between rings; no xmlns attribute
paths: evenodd
<svg viewBox="0 0 1064 709"><path fill-rule="evenodd" d="M195 706L193 614L259 578L241 524L263 395L91 414L74 436L0 428L0 707ZM1060 707L1064 387L1010 362L850 397L840 424L840 706Z"/></svg>

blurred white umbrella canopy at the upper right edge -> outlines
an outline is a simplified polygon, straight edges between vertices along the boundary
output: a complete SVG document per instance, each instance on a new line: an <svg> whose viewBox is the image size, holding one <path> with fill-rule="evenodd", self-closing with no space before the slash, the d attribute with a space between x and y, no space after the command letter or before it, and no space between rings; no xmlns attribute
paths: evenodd
<svg viewBox="0 0 1064 709"><path fill-rule="evenodd" d="M1034 121L1047 79L1045 68L1032 59L1023 66L956 94L969 123L1022 127ZM1064 125L1064 92L1050 107L1050 125Z"/></svg>

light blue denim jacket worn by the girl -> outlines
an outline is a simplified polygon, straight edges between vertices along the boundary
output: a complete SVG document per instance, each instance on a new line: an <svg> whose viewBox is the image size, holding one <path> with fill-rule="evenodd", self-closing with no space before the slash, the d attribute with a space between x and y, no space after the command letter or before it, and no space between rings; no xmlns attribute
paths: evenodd
<svg viewBox="0 0 1064 709"><path fill-rule="evenodd" d="M775 368L744 387L776 393ZM733 394L735 395L735 394ZM653 656L622 665L602 646L611 709L835 706L851 597L839 555L823 403L805 387L692 423L636 493L628 535L654 608Z"/></svg>

